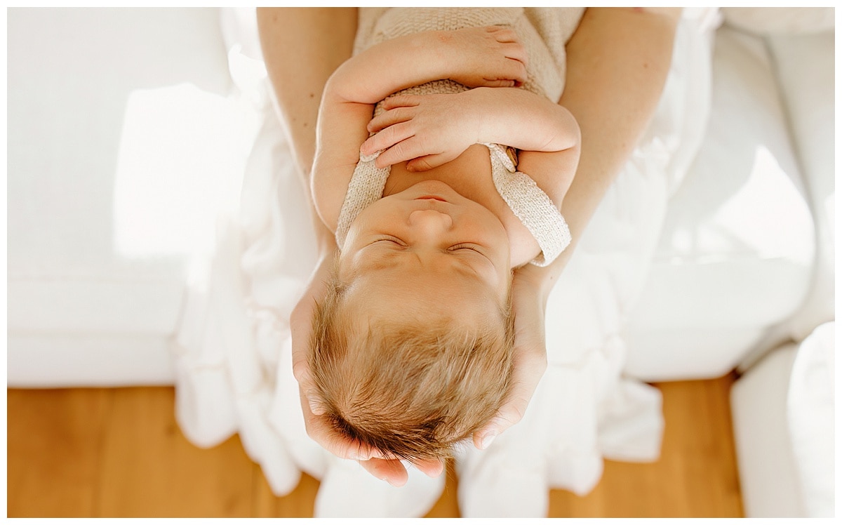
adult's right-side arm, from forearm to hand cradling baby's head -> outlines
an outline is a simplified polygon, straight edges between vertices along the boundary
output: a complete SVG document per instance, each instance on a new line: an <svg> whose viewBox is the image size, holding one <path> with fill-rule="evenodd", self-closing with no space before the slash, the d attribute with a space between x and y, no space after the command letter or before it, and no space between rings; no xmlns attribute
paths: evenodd
<svg viewBox="0 0 842 525"><path fill-rule="evenodd" d="M497 418L474 435L482 448L520 421L546 370L544 312L558 276L611 182L646 129L663 91L680 9L588 8L568 41L567 80L559 104L582 134L576 175L562 211L572 244L551 265L515 271L515 388ZM520 168L542 158L522 156Z"/></svg>

